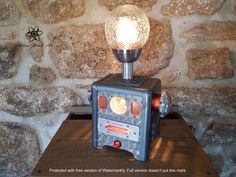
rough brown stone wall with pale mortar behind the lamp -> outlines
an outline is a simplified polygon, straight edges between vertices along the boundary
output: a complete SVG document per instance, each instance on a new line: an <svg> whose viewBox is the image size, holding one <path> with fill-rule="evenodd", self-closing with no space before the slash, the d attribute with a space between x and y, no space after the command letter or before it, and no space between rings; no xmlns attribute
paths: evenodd
<svg viewBox="0 0 236 177"><path fill-rule="evenodd" d="M135 73L162 80L220 176L236 175L235 0L0 0L0 176L28 176L70 107L120 72L104 21L126 3L151 24Z"/></svg>

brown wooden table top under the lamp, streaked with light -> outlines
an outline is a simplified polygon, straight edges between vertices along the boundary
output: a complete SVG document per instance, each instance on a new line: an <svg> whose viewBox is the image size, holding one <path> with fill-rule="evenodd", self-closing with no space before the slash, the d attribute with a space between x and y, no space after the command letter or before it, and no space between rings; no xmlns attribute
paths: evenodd
<svg viewBox="0 0 236 177"><path fill-rule="evenodd" d="M91 120L65 120L32 177L219 177L183 119L161 119L149 160L113 148L91 146Z"/></svg>

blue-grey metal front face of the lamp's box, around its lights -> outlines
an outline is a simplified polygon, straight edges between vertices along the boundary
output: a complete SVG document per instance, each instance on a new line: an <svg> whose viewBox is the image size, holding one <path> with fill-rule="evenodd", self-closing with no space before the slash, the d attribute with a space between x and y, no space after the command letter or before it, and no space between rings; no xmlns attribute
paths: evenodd
<svg viewBox="0 0 236 177"><path fill-rule="evenodd" d="M147 94L129 90L120 90L108 88L107 90L97 88L96 105L97 105L97 144L96 148L102 148L103 146L112 146L115 141L121 142L120 149L131 152L138 160L147 159L147 122L150 119L149 113L147 113L148 104L146 103ZM107 99L107 106L105 109L101 109L98 106L98 99L100 96L105 96ZM127 102L127 111L122 115L115 114L111 107L110 101L113 97L122 97ZM140 114L133 115L131 113L131 103L140 103ZM149 120L150 121L150 120ZM118 131L113 131L114 128ZM119 130L126 131L119 132Z"/></svg>

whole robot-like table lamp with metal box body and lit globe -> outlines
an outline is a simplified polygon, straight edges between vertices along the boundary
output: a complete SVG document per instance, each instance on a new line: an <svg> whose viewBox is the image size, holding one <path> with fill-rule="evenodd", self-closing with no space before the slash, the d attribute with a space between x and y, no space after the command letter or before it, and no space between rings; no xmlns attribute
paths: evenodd
<svg viewBox="0 0 236 177"><path fill-rule="evenodd" d="M140 161L148 159L159 134L160 117L168 114L171 105L168 94L161 92L159 79L133 75L133 62L149 31L149 20L138 7L123 5L111 12L105 34L113 54L123 63L123 72L96 81L89 94L93 147L126 150Z"/></svg>

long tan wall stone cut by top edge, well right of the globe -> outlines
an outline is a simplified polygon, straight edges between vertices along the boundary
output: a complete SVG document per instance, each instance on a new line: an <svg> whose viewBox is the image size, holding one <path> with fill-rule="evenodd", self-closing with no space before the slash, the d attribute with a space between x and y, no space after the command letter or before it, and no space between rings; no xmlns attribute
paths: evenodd
<svg viewBox="0 0 236 177"><path fill-rule="evenodd" d="M222 0L171 0L170 4L162 6L161 12L169 16L211 15L222 5Z"/></svg>

